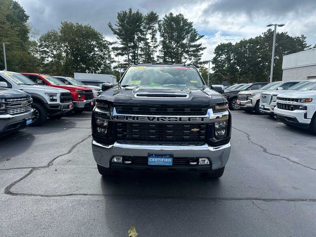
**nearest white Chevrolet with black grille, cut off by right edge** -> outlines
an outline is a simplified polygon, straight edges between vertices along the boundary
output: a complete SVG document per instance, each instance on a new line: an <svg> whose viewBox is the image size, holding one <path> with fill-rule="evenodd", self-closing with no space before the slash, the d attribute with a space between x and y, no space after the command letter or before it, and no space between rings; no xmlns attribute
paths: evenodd
<svg viewBox="0 0 316 237"><path fill-rule="evenodd" d="M316 134L316 87L277 95L274 113L283 123L310 128Z"/></svg>

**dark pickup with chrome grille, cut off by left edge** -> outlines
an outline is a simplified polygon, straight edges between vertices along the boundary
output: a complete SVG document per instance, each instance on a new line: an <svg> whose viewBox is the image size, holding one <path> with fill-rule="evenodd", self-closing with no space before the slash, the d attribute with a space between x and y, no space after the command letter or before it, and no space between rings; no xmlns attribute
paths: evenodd
<svg viewBox="0 0 316 237"><path fill-rule="evenodd" d="M34 121L31 104L29 93L0 87L0 137L20 130Z"/></svg>

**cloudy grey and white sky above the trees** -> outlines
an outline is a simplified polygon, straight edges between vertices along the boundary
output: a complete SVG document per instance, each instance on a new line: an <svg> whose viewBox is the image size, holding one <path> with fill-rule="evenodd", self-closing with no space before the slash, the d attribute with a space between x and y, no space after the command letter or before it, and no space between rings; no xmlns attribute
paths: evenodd
<svg viewBox="0 0 316 237"><path fill-rule="evenodd" d="M117 12L131 7L160 16L182 13L200 34L207 48L203 60L213 57L220 42L236 42L260 35L272 23L285 24L278 31L307 36L316 44L315 0L18 0L40 33L57 29L61 21L90 24L108 40L115 40L107 23L115 23Z"/></svg>

